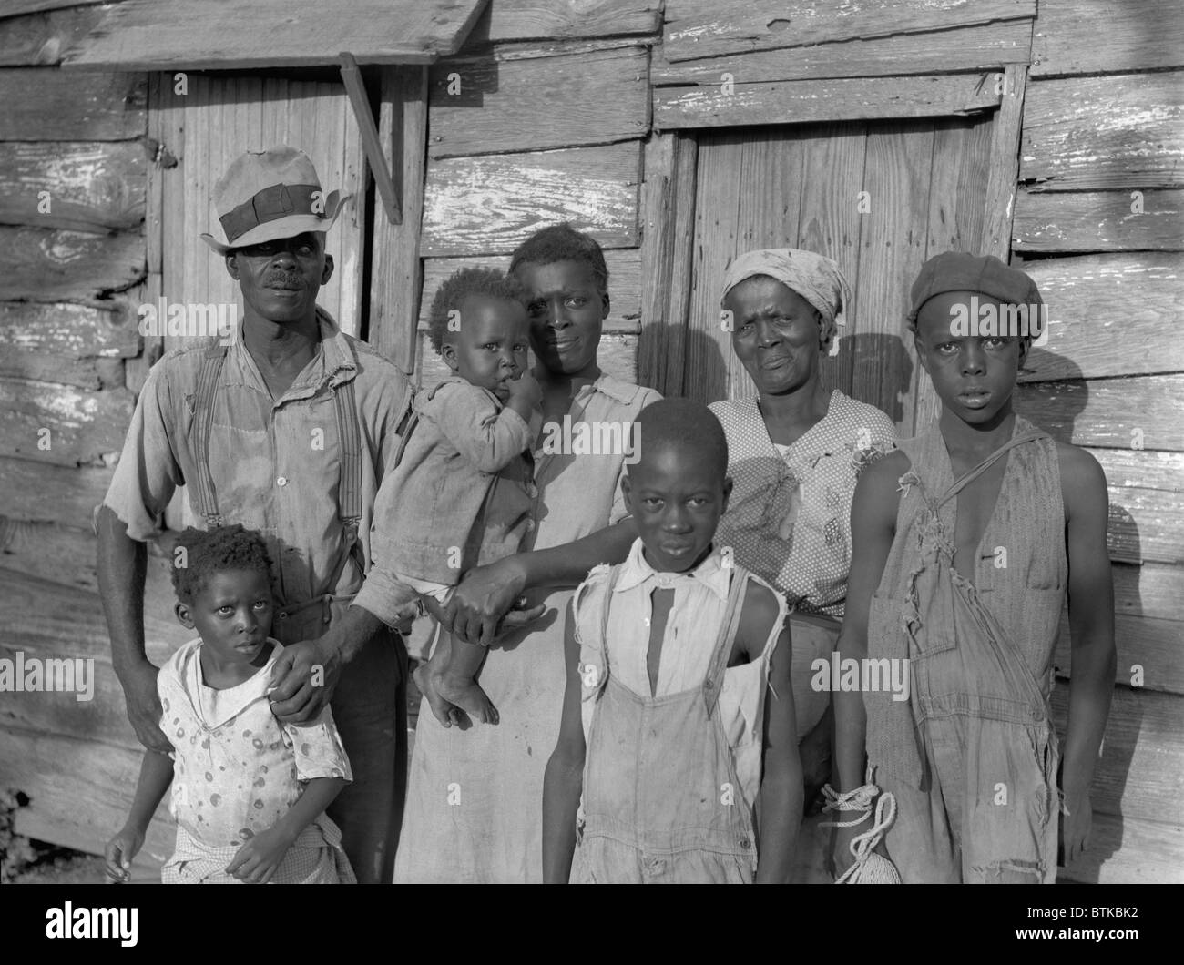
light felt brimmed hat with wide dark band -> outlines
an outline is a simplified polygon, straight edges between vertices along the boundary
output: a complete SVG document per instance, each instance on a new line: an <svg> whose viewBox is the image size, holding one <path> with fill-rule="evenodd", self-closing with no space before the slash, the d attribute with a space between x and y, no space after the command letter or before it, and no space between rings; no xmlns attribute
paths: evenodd
<svg viewBox="0 0 1184 965"><path fill-rule="evenodd" d="M214 185L214 208L229 244L201 239L219 255L305 231L328 231L350 195L324 194L316 168L303 150L275 147L249 150Z"/></svg>

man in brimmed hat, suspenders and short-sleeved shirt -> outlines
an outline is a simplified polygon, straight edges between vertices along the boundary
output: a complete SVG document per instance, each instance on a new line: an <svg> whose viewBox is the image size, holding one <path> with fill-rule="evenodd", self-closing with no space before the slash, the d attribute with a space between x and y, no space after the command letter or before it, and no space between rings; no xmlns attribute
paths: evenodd
<svg viewBox="0 0 1184 965"><path fill-rule="evenodd" d="M406 654L397 632L349 603L368 568L371 509L411 386L316 304L334 268L326 232L343 200L326 195L311 161L290 147L247 152L215 185L226 243L201 237L238 282L242 327L229 346L193 339L153 366L96 509L98 580L128 718L146 747L167 753L144 654L144 543L167 542L178 485L202 528L239 522L263 535L272 636L285 648L272 709L307 721L332 696L354 783L329 815L359 881L386 882L406 773Z"/></svg>

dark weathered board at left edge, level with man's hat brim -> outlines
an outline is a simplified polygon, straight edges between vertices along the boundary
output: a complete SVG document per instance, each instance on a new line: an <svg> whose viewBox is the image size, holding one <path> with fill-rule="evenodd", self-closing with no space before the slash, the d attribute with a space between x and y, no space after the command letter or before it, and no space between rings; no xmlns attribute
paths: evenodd
<svg viewBox="0 0 1184 965"><path fill-rule="evenodd" d="M0 225L0 300L92 302L143 276L139 234Z"/></svg>

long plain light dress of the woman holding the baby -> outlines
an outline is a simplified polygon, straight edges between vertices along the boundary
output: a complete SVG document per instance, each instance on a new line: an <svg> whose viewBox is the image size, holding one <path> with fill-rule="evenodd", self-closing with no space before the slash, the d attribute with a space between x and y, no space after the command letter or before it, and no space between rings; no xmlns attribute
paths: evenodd
<svg viewBox="0 0 1184 965"><path fill-rule="evenodd" d="M573 432L580 423L628 425L658 398L603 374L572 400ZM623 470L623 452L536 451L538 525L522 549L562 546L624 519ZM528 592L529 605L546 604L547 613L491 648L480 683L497 707L496 726L445 728L422 706L397 882L542 880L542 777L559 738L564 622L574 588Z"/></svg>

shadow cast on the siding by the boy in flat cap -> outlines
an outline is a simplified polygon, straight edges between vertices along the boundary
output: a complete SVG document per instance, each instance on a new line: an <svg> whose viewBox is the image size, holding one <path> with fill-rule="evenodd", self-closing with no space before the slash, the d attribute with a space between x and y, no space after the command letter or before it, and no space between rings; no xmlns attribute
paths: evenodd
<svg viewBox="0 0 1184 965"><path fill-rule="evenodd" d="M1016 388L1016 411L1035 425L1048 432L1061 443L1073 443L1076 435L1076 420L1085 411L1089 399L1089 384L1082 378L1081 368L1072 359L1048 349L1032 349L1034 358L1040 361L1040 368L1056 372L1056 382L1027 382ZM1030 371L1030 369L1029 369ZM1062 390L1063 391L1060 391ZM1053 390L1053 393L1049 393ZM1050 405L1049 403L1055 403ZM1119 503L1111 503L1107 527L1107 542L1113 559L1119 546L1139 547L1139 527L1134 517ZM1140 554L1141 555L1141 554ZM1138 594L1137 584L1134 592ZM1115 607L1118 609L1118 607ZM1140 600L1127 600L1122 607L1128 613L1141 613ZM1072 643L1072 641L1070 641ZM1115 630L1119 667L1124 665L1124 639L1121 630ZM1067 682L1072 677L1069 667L1057 667L1056 676ZM1094 768L1094 783L1090 800L1094 810L1092 844L1085 855L1070 867L1058 871L1061 881L1079 881L1095 883L1101 877L1105 862L1121 850L1125 837L1124 817L1120 803L1126 792L1127 777L1134 750L1143 733L1144 707L1138 700L1121 700L1130 688L1119 687L1115 701L1111 708L1111 720L1106 727L1102 741L1102 753ZM1061 701L1067 708L1068 696ZM1122 718L1114 719L1115 709L1121 708ZM1057 732L1061 739L1061 752L1064 753L1066 713L1057 708Z"/></svg>

